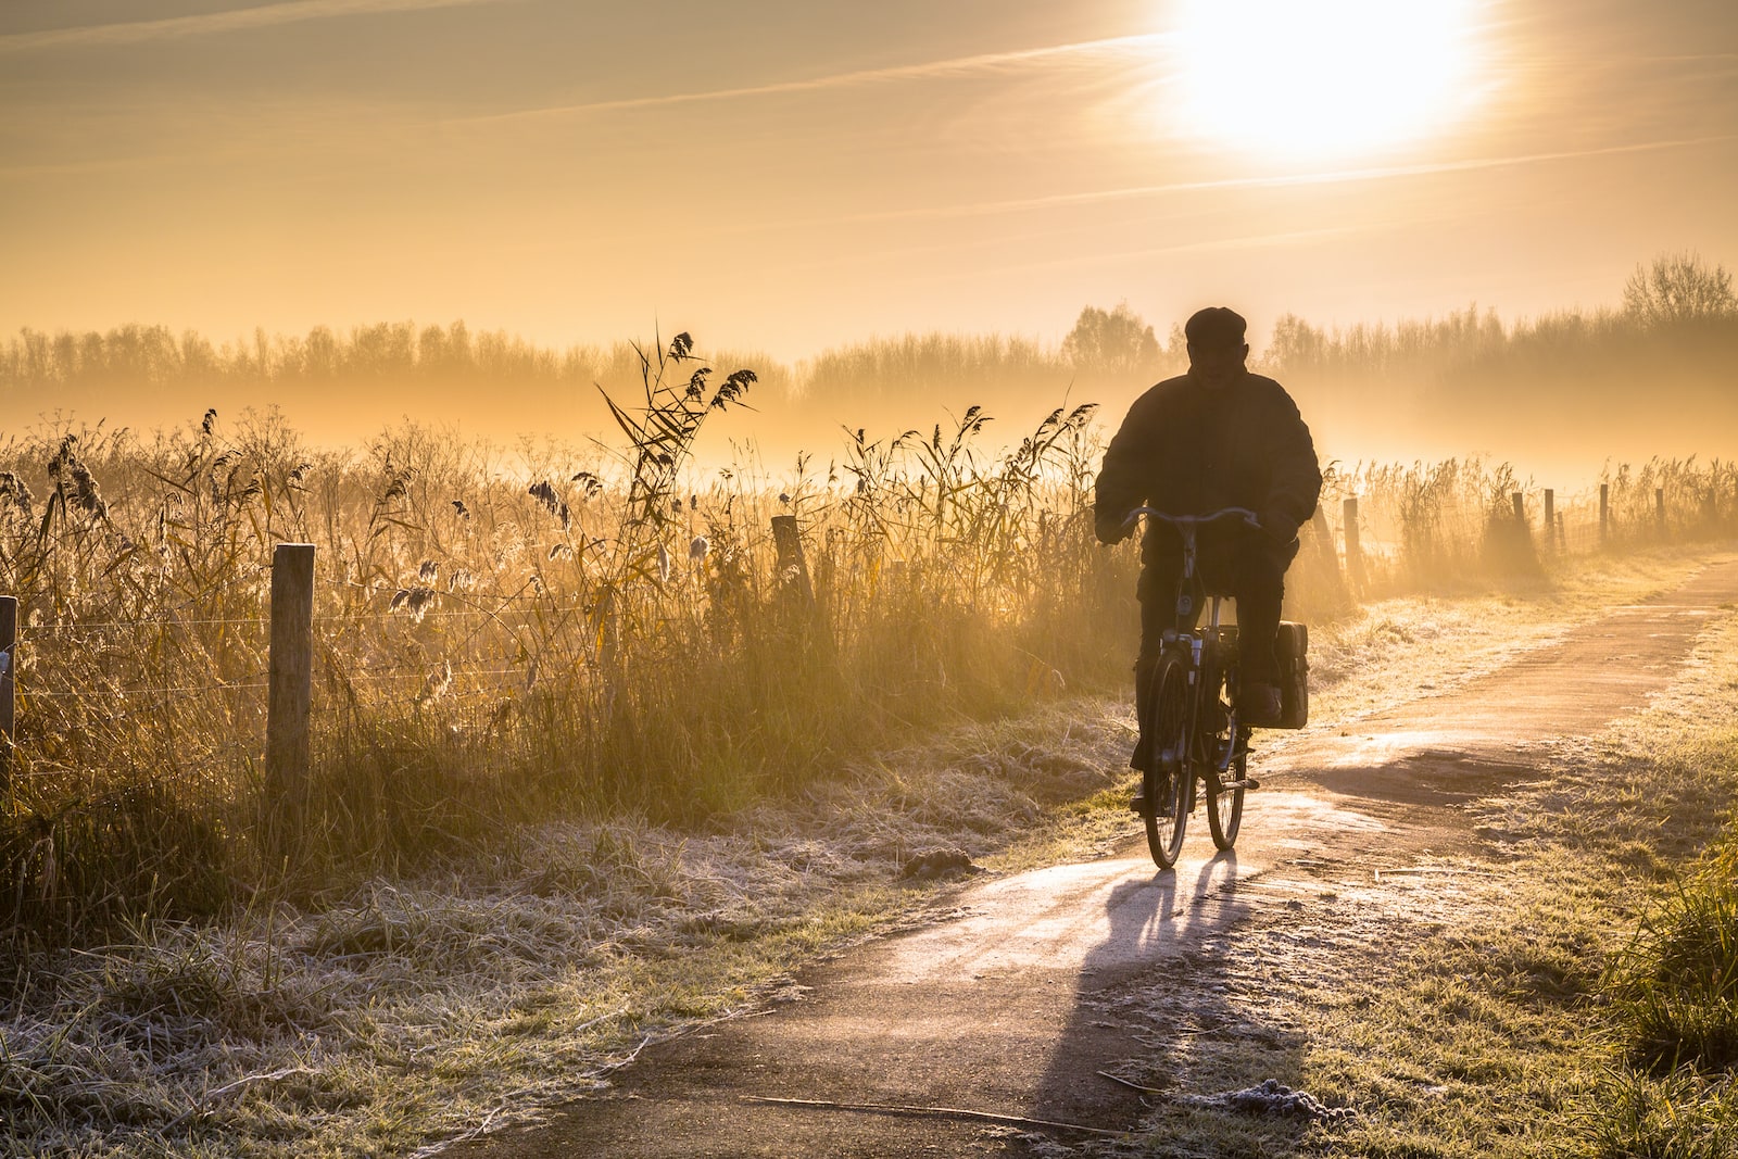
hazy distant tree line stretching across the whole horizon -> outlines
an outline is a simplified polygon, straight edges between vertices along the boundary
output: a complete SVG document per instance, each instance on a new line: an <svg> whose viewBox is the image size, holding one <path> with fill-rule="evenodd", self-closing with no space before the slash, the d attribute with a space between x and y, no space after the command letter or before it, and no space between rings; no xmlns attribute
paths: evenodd
<svg viewBox="0 0 1738 1159"><path fill-rule="evenodd" d="M1126 302L1086 306L1058 344L930 332L845 344L798 363L753 351L709 358L723 370L756 370L754 405L765 415L756 433L787 434L772 440L780 450L793 440L813 448L817 433L839 424L916 426L970 405L1024 422L1067 398L1104 403L1109 417L1145 386L1187 367L1180 327L1173 323L1161 341ZM1688 252L1639 264L1616 308L1503 321L1493 309L1469 306L1437 318L1350 327L1281 315L1255 361L1286 382L1312 424L1330 433L1423 424L1455 438L1488 429L1498 415L1542 422L1571 407L1663 421L1675 405L1675 417L1731 417L1738 427L1735 367L1731 275ZM92 417L115 407L122 389L139 386L158 387L165 405L196 415L210 387L222 384L242 387L226 394L243 403L308 398L330 405L365 391L388 415L474 410L487 398L501 429L593 429L607 426L594 382L633 391L634 348L539 346L504 330L473 332L464 321L315 327L306 335L255 330L222 344L151 325L82 334L26 328L0 341L0 391L28 398L31 412L64 400ZM23 407L0 414L16 421Z"/></svg>

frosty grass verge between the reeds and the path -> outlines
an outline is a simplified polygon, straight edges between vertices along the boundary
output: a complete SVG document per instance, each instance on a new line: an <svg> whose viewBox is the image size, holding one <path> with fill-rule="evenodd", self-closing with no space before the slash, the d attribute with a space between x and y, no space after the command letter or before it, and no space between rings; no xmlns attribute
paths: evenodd
<svg viewBox="0 0 1738 1159"><path fill-rule="evenodd" d="M1662 554L1568 575L1531 601L1376 605L1317 634L1323 704L1350 714L1415 672L1465 678L1691 566ZM1444 671L1444 653L1467 659ZM488 857L318 909L261 904L33 954L0 1008L0 1145L405 1154L535 1114L652 1039L775 999L794 966L945 907L945 890L900 876L921 853L1006 871L1123 844L1128 725L1121 702L1076 700L958 726L707 831L521 829ZM1484 888L1467 881L1469 897ZM1283 1017L1244 1046L1297 1053ZM1333 1089L1349 1096L1356 1077Z"/></svg>

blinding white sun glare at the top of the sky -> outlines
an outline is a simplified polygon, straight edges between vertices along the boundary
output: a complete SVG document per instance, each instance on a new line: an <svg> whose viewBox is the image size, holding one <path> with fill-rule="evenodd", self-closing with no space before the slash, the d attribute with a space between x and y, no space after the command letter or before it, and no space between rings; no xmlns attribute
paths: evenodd
<svg viewBox="0 0 1738 1159"><path fill-rule="evenodd" d="M1474 0L1178 0L1180 129L1290 158L1427 136L1474 99Z"/></svg>

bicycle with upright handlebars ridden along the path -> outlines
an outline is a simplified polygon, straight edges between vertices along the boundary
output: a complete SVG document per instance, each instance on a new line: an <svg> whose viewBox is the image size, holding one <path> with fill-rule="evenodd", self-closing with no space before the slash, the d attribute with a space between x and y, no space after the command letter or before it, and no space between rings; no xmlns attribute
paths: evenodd
<svg viewBox="0 0 1738 1159"><path fill-rule="evenodd" d="M1128 514L1163 520L1184 540L1177 626L1164 629L1158 666L1135 705L1144 725L1140 796L1135 808L1147 827L1147 848L1170 869L1184 848L1196 806L1196 782L1206 789L1206 824L1213 844L1229 850L1243 824L1243 794L1260 784L1248 775L1250 725L1237 721L1237 629L1218 622L1224 596L1208 594L1206 624L1196 627L1196 530L1227 518L1260 527L1255 513L1225 507L1204 516L1173 516L1154 507Z"/></svg>

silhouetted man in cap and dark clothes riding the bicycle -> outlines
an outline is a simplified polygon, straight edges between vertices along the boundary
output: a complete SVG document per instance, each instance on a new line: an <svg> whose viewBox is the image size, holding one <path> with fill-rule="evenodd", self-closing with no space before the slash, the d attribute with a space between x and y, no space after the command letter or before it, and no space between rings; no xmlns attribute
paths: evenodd
<svg viewBox="0 0 1738 1159"><path fill-rule="evenodd" d="M1297 533L1316 513L1321 469L1316 445L1297 403L1272 379L1244 367L1250 346L1244 320L1213 306L1184 327L1189 374L1159 382L1135 400L1111 440L1098 471L1093 521L1100 542L1131 533L1130 513L1152 506L1168 514L1199 516L1244 507L1260 527L1222 520L1199 532L1197 568L1208 591L1237 603L1243 683L1237 714L1248 725L1281 718L1279 603L1284 573L1298 553ZM1177 627L1182 539L1163 521L1149 521L1140 549L1140 657L1135 660L1138 704L1159 659L1164 629ZM1201 601L1194 601L1194 612ZM1142 721L1145 725L1145 721ZM1140 768L1145 745L1135 745Z"/></svg>

